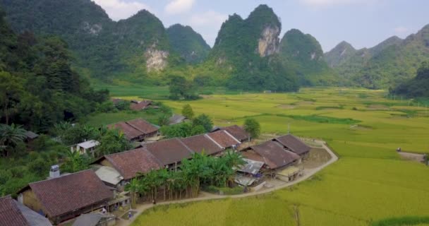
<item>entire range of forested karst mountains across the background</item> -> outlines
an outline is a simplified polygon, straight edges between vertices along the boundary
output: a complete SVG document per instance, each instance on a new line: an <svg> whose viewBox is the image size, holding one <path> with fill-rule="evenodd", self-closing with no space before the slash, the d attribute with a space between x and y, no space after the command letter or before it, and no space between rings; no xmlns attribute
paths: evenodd
<svg viewBox="0 0 429 226"><path fill-rule="evenodd" d="M260 5L248 18L229 16L214 46L191 27L164 28L149 11L115 22L90 0L0 0L13 30L58 35L72 50L73 67L107 83L162 85L181 75L199 85L241 90L297 90L306 85L389 88L416 74L429 59L426 26L405 40L391 37L370 49L341 42L323 54L315 37L292 29Z"/></svg>

